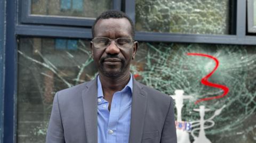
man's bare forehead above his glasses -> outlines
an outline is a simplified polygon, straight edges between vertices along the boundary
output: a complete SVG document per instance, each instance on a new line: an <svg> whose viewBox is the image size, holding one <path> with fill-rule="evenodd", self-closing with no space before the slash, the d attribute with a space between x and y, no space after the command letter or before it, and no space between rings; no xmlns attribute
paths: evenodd
<svg viewBox="0 0 256 143"><path fill-rule="evenodd" d="M126 18L100 19L94 26L95 37L131 37L131 24Z"/></svg>

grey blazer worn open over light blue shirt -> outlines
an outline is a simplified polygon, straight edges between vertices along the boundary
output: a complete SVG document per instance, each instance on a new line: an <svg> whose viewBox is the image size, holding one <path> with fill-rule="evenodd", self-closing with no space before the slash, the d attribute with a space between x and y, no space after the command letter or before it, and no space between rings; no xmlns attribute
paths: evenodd
<svg viewBox="0 0 256 143"><path fill-rule="evenodd" d="M57 92L46 142L97 143L97 78ZM133 79L129 143L176 143L173 99Z"/></svg>

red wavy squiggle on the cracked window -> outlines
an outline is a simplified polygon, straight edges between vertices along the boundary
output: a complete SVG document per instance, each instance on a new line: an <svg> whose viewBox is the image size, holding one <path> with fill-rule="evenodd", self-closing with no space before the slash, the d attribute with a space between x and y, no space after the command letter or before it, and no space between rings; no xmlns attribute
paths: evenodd
<svg viewBox="0 0 256 143"><path fill-rule="evenodd" d="M218 96L213 96L213 97L206 97L206 98L202 98L202 99L198 99L196 100L195 104L199 103L199 102L203 102L203 101L207 101L207 100L212 100L212 99L218 99L218 98L222 98L224 96L226 96L228 94L229 88L223 85L219 85L217 83L212 83L208 81L208 78L211 77L211 75L218 69L219 66L219 61L216 57L211 56L211 55L206 55L206 54L200 54L200 53L188 53L187 55L189 56L203 56L203 57L208 57L211 58L212 60L214 60L214 62L216 63L215 68L209 73L207 74L204 78L201 79L201 83L205 86L210 86L210 87L214 87L214 88L220 88L223 90L223 94L222 95L218 95Z"/></svg>

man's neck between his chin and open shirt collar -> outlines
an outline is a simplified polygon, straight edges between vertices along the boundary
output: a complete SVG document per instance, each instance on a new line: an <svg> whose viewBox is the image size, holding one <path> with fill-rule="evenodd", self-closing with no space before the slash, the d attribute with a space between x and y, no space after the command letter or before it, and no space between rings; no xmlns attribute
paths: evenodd
<svg viewBox="0 0 256 143"><path fill-rule="evenodd" d="M103 90L120 91L122 90L130 80L130 72L125 73L122 77L106 77L99 73L100 82Z"/></svg>

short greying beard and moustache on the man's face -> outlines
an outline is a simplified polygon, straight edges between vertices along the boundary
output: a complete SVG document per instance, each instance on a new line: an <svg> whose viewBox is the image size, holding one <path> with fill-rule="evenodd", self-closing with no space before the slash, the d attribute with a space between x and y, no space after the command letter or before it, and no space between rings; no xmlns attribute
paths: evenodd
<svg viewBox="0 0 256 143"><path fill-rule="evenodd" d="M121 66L116 66L116 65L109 65L108 66L108 69L112 69L111 71L108 71L105 66L104 66L104 61L107 59L107 58L118 58L119 60L121 60ZM118 78L118 77L121 77L121 75L124 74L125 70L126 70L126 64L125 64L125 59L122 58L122 57L119 57L117 55L107 55L105 57L101 57L100 58L100 64L99 64L99 70L101 71L101 73L103 75L105 75L106 77L109 77L109 78Z"/></svg>

